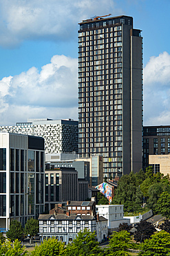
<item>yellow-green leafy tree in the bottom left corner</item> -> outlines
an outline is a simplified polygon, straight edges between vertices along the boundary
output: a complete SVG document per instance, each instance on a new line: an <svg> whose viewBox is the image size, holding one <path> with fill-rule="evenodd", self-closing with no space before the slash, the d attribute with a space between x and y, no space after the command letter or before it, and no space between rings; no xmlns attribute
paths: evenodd
<svg viewBox="0 0 170 256"><path fill-rule="evenodd" d="M27 250L25 250L25 246L21 246L21 242L16 239L13 243L11 241L6 240L0 246L0 255L5 256L21 256L28 255Z"/></svg>

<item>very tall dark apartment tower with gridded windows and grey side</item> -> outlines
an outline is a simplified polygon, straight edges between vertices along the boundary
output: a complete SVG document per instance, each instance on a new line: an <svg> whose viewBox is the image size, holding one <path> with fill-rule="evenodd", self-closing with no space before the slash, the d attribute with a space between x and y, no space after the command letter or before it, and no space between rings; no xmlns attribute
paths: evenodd
<svg viewBox="0 0 170 256"><path fill-rule="evenodd" d="M128 16L78 30L78 147L103 156L103 177L142 167L142 37Z"/></svg>

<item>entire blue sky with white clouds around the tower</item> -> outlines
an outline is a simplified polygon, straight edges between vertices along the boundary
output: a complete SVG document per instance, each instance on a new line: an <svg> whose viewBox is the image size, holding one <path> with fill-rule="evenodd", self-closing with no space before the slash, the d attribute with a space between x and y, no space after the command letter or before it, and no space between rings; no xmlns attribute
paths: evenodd
<svg viewBox="0 0 170 256"><path fill-rule="evenodd" d="M0 125L77 119L78 22L129 15L142 30L144 125L170 125L169 0L0 0Z"/></svg>

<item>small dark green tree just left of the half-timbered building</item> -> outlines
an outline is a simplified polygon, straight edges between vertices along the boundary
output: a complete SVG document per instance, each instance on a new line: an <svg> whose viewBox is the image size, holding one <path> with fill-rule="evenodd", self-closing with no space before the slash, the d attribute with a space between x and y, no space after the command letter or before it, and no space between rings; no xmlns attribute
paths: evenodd
<svg viewBox="0 0 170 256"><path fill-rule="evenodd" d="M32 242L32 238L39 232L39 221L37 219L28 219L25 223L24 232L25 235L30 235L30 242Z"/></svg>

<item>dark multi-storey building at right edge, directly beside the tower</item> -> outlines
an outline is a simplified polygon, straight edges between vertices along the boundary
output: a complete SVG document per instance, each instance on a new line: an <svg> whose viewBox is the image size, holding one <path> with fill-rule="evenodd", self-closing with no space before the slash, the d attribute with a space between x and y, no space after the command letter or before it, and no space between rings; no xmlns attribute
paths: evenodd
<svg viewBox="0 0 170 256"><path fill-rule="evenodd" d="M161 125L143 127L143 169L152 163L152 161L149 163L149 155L162 154L170 154L170 126ZM156 166L154 168L156 168L154 172L157 172L158 168Z"/></svg>

